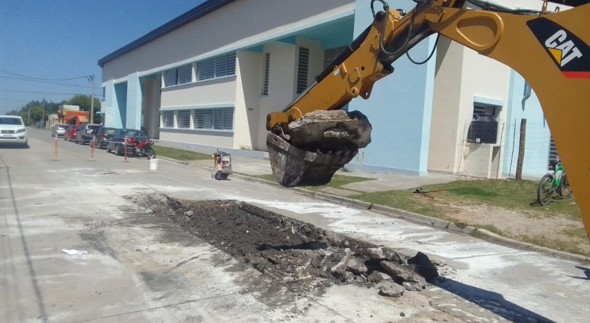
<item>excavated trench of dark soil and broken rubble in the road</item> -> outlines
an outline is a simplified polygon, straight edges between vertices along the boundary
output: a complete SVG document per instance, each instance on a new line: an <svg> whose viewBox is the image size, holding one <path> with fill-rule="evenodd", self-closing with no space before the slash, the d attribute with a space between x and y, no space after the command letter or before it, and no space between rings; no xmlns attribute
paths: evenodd
<svg viewBox="0 0 590 323"><path fill-rule="evenodd" d="M404 290L423 290L438 274L421 252L410 258L241 201L127 198L255 268L269 285L300 295L354 283L401 297Z"/></svg>

